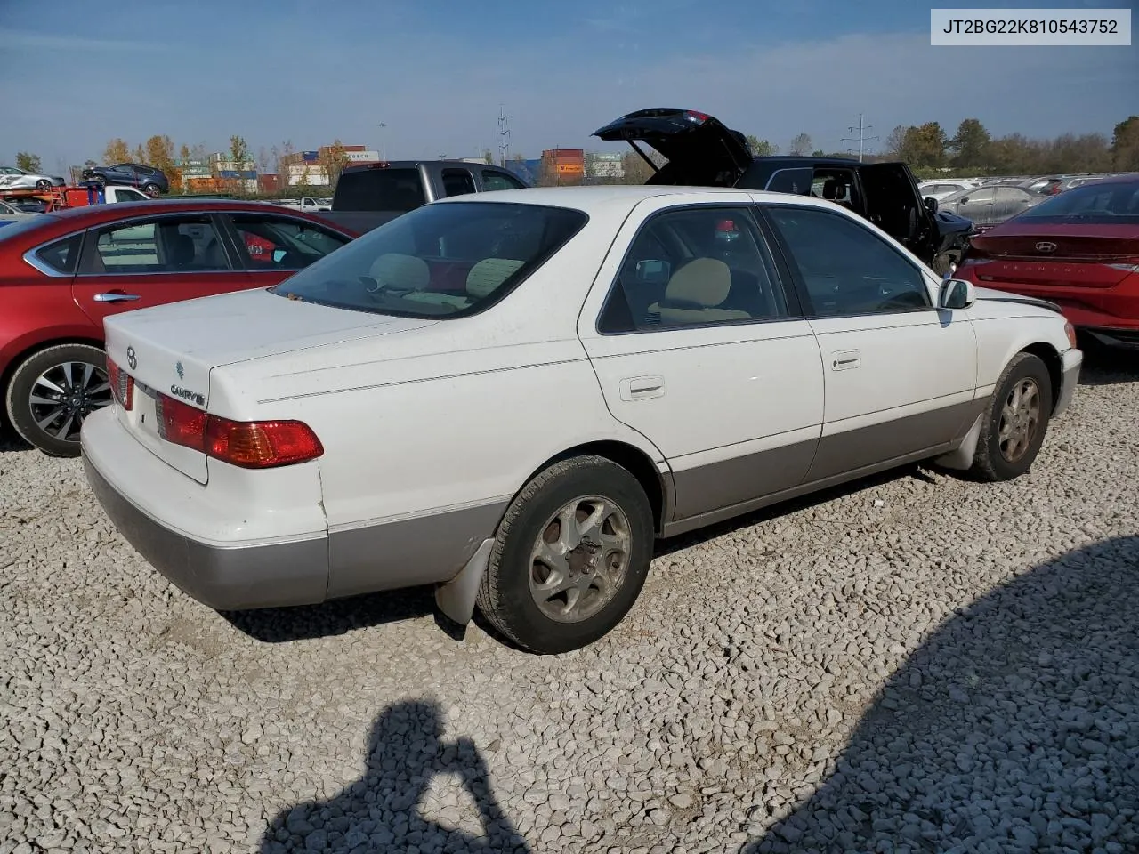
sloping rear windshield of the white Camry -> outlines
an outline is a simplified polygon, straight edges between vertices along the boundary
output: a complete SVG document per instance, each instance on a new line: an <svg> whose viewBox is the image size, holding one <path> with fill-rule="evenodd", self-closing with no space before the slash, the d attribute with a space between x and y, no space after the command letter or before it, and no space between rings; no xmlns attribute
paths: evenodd
<svg viewBox="0 0 1139 854"><path fill-rule="evenodd" d="M493 202L425 205L271 288L378 314L473 314L514 289L585 224L581 211Z"/></svg>

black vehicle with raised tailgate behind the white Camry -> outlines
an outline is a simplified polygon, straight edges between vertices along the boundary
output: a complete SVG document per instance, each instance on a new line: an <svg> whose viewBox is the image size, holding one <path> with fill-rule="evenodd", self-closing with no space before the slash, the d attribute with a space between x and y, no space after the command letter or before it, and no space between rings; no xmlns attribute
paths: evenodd
<svg viewBox="0 0 1139 854"><path fill-rule="evenodd" d="M667 107L640 109L593 132L624 140L649 165L650 184L735 187L818 196L862 215L943 276L968 245L973 222L937 211L921 198L904 163L860 163L841 157L755 157L747 139L714 116ZM659 169L637 145L655 149Z"/></svg>

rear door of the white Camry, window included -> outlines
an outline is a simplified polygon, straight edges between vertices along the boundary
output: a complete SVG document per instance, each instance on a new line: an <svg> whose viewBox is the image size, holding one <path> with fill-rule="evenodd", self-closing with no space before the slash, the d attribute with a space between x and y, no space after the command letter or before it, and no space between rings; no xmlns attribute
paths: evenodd
<svg viewBox="0 0 1139 854"><path fill-rule="evenodd" d="M609 411L671 466L673 519L796 486L818 445L818 345L749 202L644 202L579 325Z"/></svg>

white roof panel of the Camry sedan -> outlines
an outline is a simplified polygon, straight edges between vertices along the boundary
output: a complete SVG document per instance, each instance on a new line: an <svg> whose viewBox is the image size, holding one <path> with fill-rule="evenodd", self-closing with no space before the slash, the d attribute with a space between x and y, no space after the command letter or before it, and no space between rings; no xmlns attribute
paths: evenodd
<svg viewBox="0 0 1139 854"><path fill-rule="evenodd" d="M521 190L494 190L493 192L467 194L449 196L432 202L433 205L489 202L514 203L523 205L544 205L549 207L568 207L584 213L591 211L624 207L631 211L647 198L673 197L678 203L687 197L703 196L738 196L746 194L760 202L776 204L817 204L820 207L836 207L833 203L810 196L798 196L788 192L768 192L763 190L744 190L732 187L675 187L672 184L591 184L588 187L531 187ZM146 204L146 203L141 203Z"/></svg>

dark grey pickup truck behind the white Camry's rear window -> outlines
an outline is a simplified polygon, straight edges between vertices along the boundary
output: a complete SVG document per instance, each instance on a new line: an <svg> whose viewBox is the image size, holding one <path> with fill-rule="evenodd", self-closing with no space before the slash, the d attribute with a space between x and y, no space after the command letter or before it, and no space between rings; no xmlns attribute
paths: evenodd
<svg viewBox="0 0 1139 854"><path fill-rule="evenodd" d="M359 235L435 199L523 187L526 183L521 178L490 163L361 163L344 169L331 211L321 211L320 216Z"/></svg>

